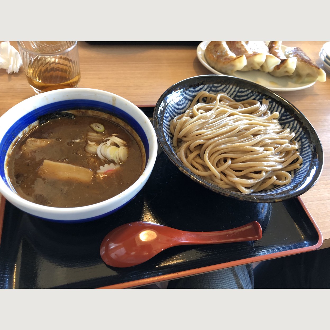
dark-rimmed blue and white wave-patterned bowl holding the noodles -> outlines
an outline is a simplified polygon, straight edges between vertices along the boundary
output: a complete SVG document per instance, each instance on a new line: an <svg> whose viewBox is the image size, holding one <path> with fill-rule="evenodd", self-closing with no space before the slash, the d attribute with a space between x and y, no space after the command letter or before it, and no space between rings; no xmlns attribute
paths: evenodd
<svg viewBox="0 0 330 330"><path fill-rule="evenodd" d="M269 110L279 112L279 121L282 127L294 131L296 133L295 140L301 144L300 154L303 157L303 164L300 169L293 171L293 178L289 184L251 194L233 192L205 181L182 164L172 145L170 122L175 116L185 112L194 97L202 90L213 94L220 91L225 92L235 101L256 99L262 102L263 98L269 100ZM174 84L157 101L153 113L153 126L162 149L180 171L202 186L236 199L271 203L295 198L309 190L318 180L322 171L322 145L306 117L281 96L263 86L243 79L204 75L188 78Z"/></svg>

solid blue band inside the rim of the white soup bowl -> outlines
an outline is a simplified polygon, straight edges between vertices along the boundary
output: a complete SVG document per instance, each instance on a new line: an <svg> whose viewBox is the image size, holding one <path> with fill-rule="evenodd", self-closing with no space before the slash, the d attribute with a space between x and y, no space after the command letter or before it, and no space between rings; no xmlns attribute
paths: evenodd
<svg viewBox="0 0 330 330"><path fill-rule="evenodd" d="M56 111L66 111L66 110L74 110L74 109L87 109L87 110L95 110L104 113L109 113L127 122L140 136L141 141L145 147L146 160L148 161L149 158L148 138L145 132L143 131L142 127L132 116L108 103L94 101L94 100L76 99L76 100L54 102L49 105L39 107L35 109L33 112L30 112L25 116L23 116L19 122L16 122L12 127L9 128L2 141L0 141L0 148L1 148L0 163L1 164L5 163L7 150L14 141L14 139L16 138L16 136L20 134L30 124L37 121L39 116L50 114ZM0 175L3 178L3 181L6 182L7 186L11 188L11 186L7 182L4 168L0 168Z"/></svg>

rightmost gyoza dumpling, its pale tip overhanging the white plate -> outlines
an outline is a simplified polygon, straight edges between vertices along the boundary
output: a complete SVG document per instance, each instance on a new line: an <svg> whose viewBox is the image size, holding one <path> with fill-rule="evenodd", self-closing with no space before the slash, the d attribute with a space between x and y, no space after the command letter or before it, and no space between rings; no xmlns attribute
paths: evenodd
<svg viewBox="0 0 330 330"><path fill-rule="evenodd" d="M297 83L301 82L325 82L326 73L320 69L310 57L299 47L288 47L284 50L287 58L296 58L297 66L293 78Z"/></svg>

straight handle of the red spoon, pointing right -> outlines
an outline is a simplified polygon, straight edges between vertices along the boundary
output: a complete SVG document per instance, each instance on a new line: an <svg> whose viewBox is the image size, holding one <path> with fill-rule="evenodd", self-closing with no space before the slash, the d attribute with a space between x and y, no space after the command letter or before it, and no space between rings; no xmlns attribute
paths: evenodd
<svg viewBox="0 0 330 330"><path fill-rule="evenodd" d="M182 235L180 245L246 242L260 240L261 237L262 229L259 222L252 221L233 229L210 232L186 232L186 235Z"/></svg>

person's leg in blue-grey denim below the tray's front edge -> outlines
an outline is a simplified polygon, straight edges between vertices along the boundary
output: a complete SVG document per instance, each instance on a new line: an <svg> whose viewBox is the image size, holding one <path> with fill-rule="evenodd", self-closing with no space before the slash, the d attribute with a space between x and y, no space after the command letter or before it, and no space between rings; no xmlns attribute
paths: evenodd
<svg viewBox="0 0 330 330"><path fill-rule="evenodd" d="M253 289L252 265L242 265L169 281L168 289Z"/></svg>

